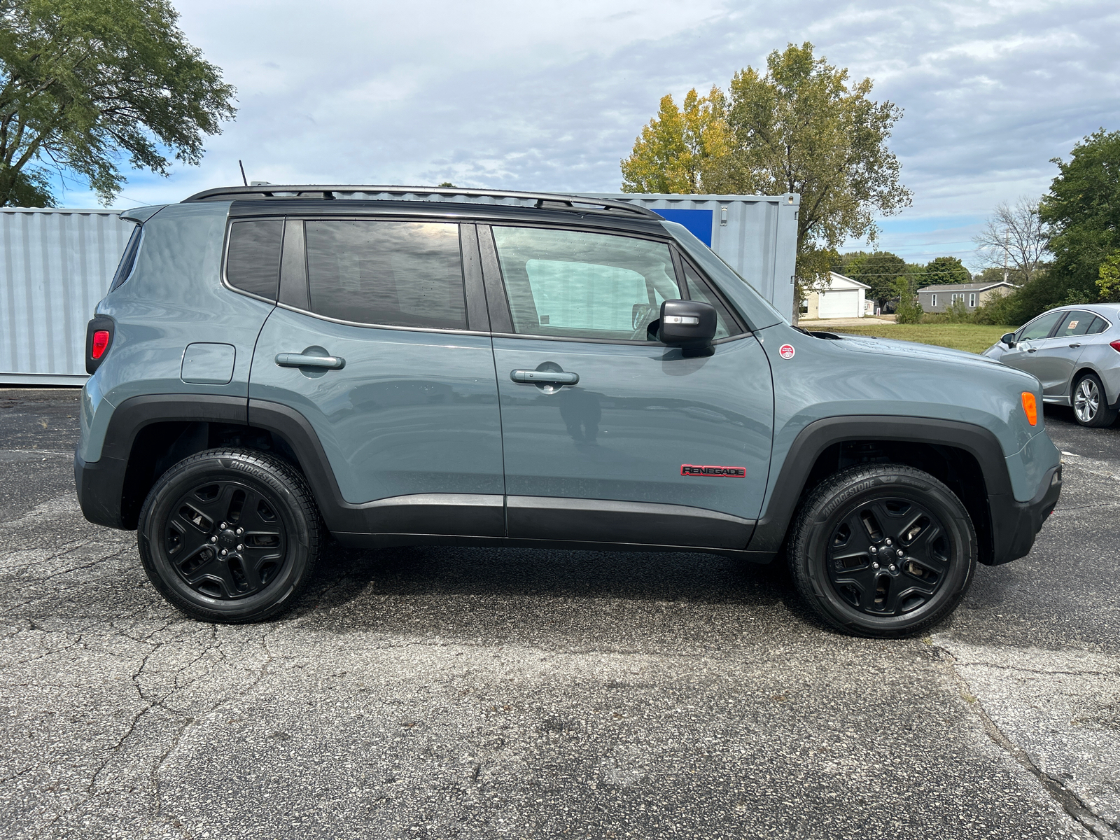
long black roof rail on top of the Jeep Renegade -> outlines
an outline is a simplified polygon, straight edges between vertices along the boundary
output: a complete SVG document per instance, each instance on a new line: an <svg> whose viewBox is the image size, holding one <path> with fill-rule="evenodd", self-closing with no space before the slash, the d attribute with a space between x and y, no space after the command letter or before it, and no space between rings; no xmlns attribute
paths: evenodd
<svg viewBox="0 0 1120 840"><path fill-rule="evenodd" d="M362 184L268 184L252 187L216 187L204 189L185 198L184 202L220 202L237 198L337 198L335 193L380 193L391 196L477 196L479 198L520 198L534 202L536 207L552 209L586 211L599 209L607 212L631 213L645 218L661 220L653 211L637 204L616 202L607 198L588 198L560 193L517 193L505 189L460 189L458 187L400 187L373 186ZM581 205L581 206L576 206Z"/></svg>

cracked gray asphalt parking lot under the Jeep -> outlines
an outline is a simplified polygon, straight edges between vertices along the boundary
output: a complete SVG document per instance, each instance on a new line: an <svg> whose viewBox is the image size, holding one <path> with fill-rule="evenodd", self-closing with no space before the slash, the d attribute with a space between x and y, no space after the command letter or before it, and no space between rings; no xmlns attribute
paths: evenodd
<svg viewBox="0 0 1120 840"><path fill-rule="evenodd" d="M82 519L76 390L0 390L0 836L1120 837L1120 427L925 638L712 556L328 548L186 619Z"/></svg>

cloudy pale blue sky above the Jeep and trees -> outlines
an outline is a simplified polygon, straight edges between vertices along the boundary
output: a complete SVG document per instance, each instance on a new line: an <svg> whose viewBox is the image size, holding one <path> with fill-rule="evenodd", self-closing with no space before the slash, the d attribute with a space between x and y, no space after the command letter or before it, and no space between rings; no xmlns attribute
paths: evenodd
<svg viewBox="0 0 1120 840"><path fill-rule="evenodd" d="M116 206L250 179L609 192L665 93L726 86L790 41L905 110L914 205L880 248L979 268L992 206L1042 194L1086 133L1120 129L1120 4L722 0L177 0L239 91L203 165L133 172ZM95 206L81 185L67 206ZM858 246L859 243L850 243Z"/></svg>

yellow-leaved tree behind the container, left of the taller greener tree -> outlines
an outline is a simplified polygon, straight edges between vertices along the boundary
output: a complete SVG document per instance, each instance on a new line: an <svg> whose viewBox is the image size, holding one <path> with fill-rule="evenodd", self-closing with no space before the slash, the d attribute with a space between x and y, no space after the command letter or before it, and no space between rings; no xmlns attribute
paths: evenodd
<svg viewBox="0 0 1120 840"><path fill-rule="evenodd" d="M712 161L727 155L727 105L718 87L701 97L693 87L682 111L671 95L642 129L622 161L624 193L703 193Z"/></svg>

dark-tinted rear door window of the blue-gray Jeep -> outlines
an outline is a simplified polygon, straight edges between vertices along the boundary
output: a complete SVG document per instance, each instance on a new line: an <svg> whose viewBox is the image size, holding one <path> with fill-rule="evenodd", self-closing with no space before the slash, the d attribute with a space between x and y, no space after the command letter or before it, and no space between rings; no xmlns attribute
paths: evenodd
<svg viewBox="0 0 1120 840"><path fill-rule="evenodd" d="M311 311L396 327L466 329L459 226L308 221Z"/></svg>

